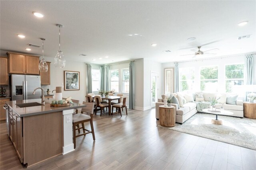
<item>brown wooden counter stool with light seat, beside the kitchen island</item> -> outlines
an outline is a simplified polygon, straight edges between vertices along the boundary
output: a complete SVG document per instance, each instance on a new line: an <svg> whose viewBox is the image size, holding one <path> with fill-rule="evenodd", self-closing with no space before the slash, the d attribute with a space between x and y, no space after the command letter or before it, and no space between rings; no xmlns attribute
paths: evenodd
<svg viewBox="0 0 256 170"><path fill-rule="evenodd" d="M76 137L80 137L82 135L85 136L88 133L92 133L92 138L95 141L94 128L93 128L93 123L92 123L94 103L83 102L83 104L86 105L86 107L82 107L81 113L72 115L74 149L76 148ZM83 114L84 112L89 113L90 116ZM88 121L90 121L91 130L84 128L84 123L88 122ZM82 124L82 127L78 126L78 128L76 128L76 125L79 125L79 124ZM83 130L83 133L76 135L76 130L80 130L80 129Z"/></svg>

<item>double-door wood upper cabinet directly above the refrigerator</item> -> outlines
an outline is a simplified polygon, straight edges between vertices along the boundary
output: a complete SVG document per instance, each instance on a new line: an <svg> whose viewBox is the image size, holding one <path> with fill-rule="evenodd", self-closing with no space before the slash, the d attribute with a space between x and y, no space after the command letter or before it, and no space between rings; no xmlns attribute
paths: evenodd
<svg viewBox="0 0 256 170"><path fill-rule="evenodd" d="M9 73L10 74L35 74L39 75L39 57L19 54L6 53L9 56Z"/></svg>

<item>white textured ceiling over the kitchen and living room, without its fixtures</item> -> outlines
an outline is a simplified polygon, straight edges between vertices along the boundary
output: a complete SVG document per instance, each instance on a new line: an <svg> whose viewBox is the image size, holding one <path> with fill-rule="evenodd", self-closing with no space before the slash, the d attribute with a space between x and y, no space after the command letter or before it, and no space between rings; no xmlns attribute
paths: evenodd
<svg viewBox="0 0 256 170"><path fill-rule="evenodd" d="M0 45L4 51L55 57L58 27L67 60L114 63L148 58L160 63L192 59L190 49L218 48L214 56L256 51L256 1L0 1ZM36 18L32 12L41 12ZM243 27L240 21L249 21ZM17 34L26 37L20 39ZM129 34L138 34L129 36ZM250 38L237 40L238 36ZM140 36L142 35L142 36ZM187 41L196 37L194 41ZM213 43L210 43L213 42ZM152 43L157 43L152 47ZM210 43L210 44L208 44ZM208 45L204 45L208 44ZM170 50L170 53L163 52ZM79 56L86 54L87 56ZM109 56L104 58L104 56ZM98 58L102 57L101 60ZM96 61L92 61L96 59Z"/></svg>

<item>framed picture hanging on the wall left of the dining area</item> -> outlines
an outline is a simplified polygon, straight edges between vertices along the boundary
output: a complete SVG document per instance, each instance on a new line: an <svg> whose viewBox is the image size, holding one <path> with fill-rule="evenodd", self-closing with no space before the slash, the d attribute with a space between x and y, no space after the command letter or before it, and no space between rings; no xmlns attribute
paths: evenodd
<svg viewBox="0 0 256 170"><path fill-rule="evenodd" d="M80 72L64 71L64 90L80 90Z"/></svg>

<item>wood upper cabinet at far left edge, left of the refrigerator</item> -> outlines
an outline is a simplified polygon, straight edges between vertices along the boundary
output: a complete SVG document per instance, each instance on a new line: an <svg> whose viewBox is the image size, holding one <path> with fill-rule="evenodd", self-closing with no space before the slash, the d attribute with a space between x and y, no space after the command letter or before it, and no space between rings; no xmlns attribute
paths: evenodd
<svg viewBox="0 0 256 170"><path fill-rule="evenodd" d="M0 57L0 85L8 85L8 58Z"/></svg>

